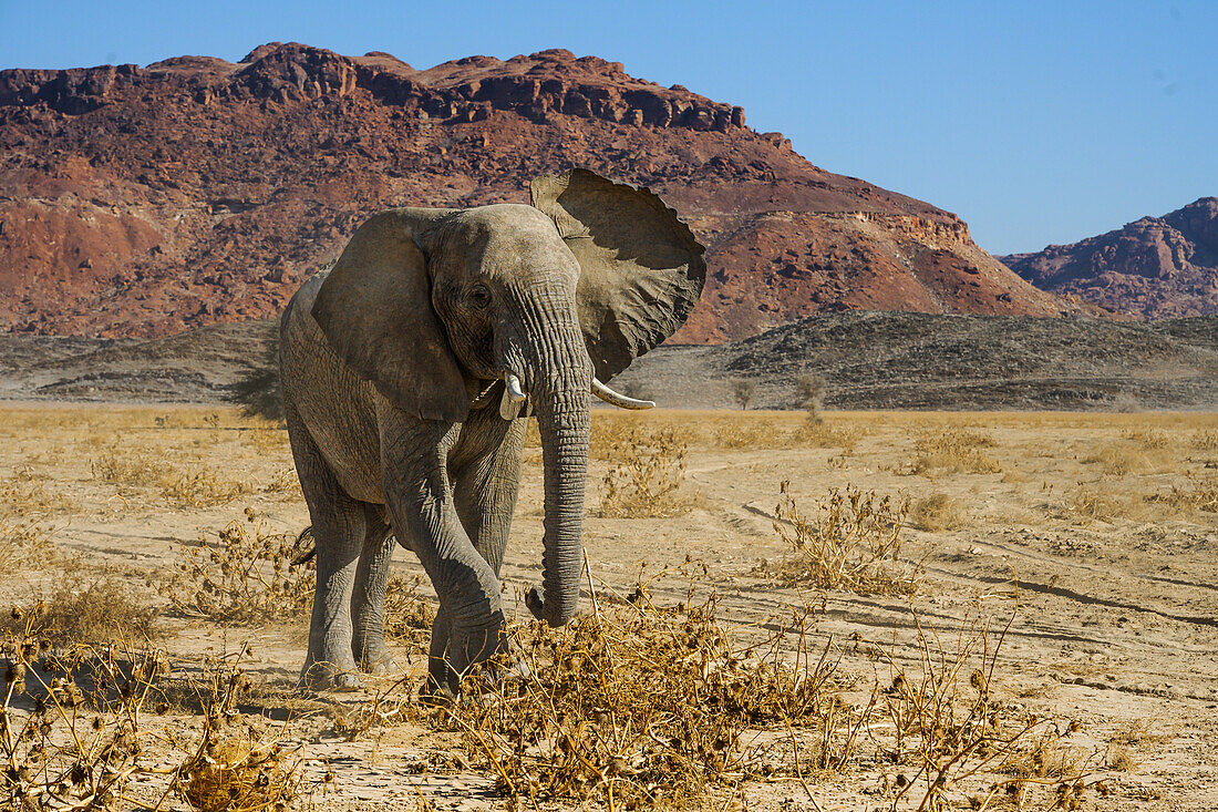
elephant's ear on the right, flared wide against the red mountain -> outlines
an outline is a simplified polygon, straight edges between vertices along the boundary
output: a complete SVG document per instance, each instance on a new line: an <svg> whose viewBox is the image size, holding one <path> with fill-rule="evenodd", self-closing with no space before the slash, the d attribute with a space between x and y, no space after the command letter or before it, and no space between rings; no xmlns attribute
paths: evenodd
<svg viewBox="0 0 1218 812"><path fill-rule="evenodd" d="M608 380L672 335L702 295L705 249L650 189L571 169L529 185L580 261L580 324Z"/></svg>

